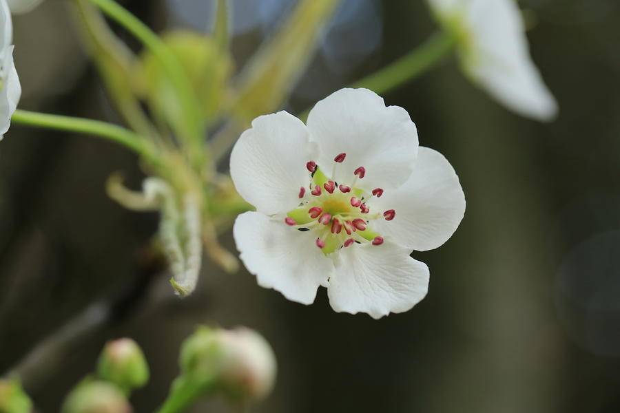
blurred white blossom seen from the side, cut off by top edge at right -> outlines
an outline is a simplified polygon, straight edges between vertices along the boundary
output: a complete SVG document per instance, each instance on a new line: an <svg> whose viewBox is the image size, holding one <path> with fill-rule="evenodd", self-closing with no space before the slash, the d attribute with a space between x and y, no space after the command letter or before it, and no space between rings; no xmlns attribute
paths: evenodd
<svg viewBox="0 0 620 413"><path fill-rule="evenodd" d="M509 109L538 120L557 103L530 56L524 22L513 0L428 0L456 37L464 72Z"/></svg>

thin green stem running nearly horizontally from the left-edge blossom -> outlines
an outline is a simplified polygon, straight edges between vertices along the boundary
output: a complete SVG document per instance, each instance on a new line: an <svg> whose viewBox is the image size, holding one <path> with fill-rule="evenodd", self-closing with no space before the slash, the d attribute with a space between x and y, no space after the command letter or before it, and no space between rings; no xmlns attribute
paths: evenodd
<svg viewBox="0 0 620 413"><path fill-rule="evenodd" d="M41 114L21 109L15 111L11 120L13 123L21 125L90 134L98 136L99 138L106 138L132 149L132 151L145 156L145 158L149 158L149 160L156 160L154 147L152 147L149 142L145 141L142 136L124 127L105 123L101 120Z"/></svg>

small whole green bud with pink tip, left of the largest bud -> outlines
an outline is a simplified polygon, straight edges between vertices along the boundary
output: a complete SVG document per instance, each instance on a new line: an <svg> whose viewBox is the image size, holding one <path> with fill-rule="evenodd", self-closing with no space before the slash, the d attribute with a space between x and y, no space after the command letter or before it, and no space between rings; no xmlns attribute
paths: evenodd
<svg viewBox="0 0 620 413"><path fill-rule="evenodd" d="M97 375L129 394L149 380L149 366L144 353L132 339L108 341L99 356Z"/></svg>

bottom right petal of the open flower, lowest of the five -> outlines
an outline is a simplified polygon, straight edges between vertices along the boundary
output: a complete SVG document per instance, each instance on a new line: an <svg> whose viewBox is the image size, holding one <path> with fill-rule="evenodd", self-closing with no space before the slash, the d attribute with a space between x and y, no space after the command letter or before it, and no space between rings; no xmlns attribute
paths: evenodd
<svg viewBox="0 0 620 413"><path fill-rule="evenodd" d="M327 295L338 313L368 313L379 319L410 310L426 296L428 267L402 246L353 244L338 252Z"/></svg>

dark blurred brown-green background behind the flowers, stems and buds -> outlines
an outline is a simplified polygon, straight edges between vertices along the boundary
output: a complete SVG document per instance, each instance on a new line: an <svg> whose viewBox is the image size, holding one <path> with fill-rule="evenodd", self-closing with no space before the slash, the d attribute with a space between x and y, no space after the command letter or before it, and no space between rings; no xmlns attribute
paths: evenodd
<svg viewBox="0 0 620 413"><path fill-rule="evenodd" d="M210 0L123 3L156 30L211 28ZM237 69L295 3L231 1ZM619 412L620 3L520 3L533 59L559 100L554 123L510 114L454 60L384 96L409 111L422 145L451 161L468 202L451 240L413 254L431 268L426 299L374 321L334 313L324 288L302 306L246 271L207 263L193 297L157 307L129 297L130 309L58 366L50 360L52 379L25 382L39 410L58 411L103 343L129 336L152 368L134 406L152 411L178 372L180 342L211 324L255 328L276 350L276 390L253 412ZM20 107L118 120L65 1L45 1L14 26ZM344 1L286 109L301 112L436 27L423 1ZM132 153L94 138L15 125L1 142L0 371L161 266L145 253L157 215L107 198L114 171L133 187L143 178ZM234 250L230 235L223 242Z"/></svg>

